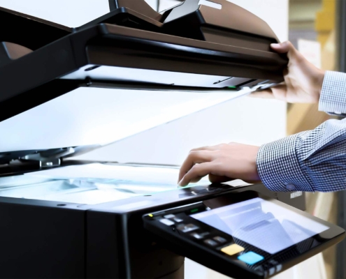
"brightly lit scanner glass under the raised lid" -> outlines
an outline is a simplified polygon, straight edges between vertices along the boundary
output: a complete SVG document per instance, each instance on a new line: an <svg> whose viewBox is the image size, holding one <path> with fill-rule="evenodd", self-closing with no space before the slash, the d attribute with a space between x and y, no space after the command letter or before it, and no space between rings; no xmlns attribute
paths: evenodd
<svg viewBox="0 0 346 279"><path fill-rule="evenodd" d="M177 189L178 167L93 163L0 178L0 197L101 204ZM208 184L207 179L200 183ZM196 184L192 184L196 185Z"/></svg>

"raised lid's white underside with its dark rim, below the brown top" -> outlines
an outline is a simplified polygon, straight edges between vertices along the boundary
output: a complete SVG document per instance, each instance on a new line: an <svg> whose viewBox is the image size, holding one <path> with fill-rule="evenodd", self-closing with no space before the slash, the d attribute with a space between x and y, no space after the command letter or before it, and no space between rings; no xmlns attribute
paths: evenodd
<svg viewBox="0 0 346 279"><path fill-rule="evenodd" d="M281 82L287 63L256 48L104 22L33 52L1 46L9 59L0 63L0 163L122 140Z"/></svg>

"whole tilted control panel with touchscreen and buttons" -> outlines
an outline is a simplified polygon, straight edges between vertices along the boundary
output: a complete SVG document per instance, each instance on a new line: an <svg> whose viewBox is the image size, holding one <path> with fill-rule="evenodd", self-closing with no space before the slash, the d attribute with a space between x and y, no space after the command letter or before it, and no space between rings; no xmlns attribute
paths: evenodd
<svg viewBox="0 0 346 279"><path fill-rule="evenodd" d="M268 278L344 237L344 230L247 191L143 216L168 248L231 278Z"/></svg>

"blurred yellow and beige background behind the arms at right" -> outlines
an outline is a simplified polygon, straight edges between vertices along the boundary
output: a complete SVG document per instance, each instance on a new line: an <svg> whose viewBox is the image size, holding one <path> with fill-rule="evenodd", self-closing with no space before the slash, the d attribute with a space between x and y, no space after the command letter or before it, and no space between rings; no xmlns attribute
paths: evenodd
<svg viewBox="0 0 346 279"><path fill-rule="evenodd" d="M341 68L338 39L343 30L343 0L289 0L289 40L303 55L323 70ZM341 66L341 67L340 67ZM287 135L311 130L332 118L318 112L318 105L287 106ZM307 211L331 223L343 223L344 193L307 193ZM338 209L339 201L339 209ZM341 207L340 207L341 206ZM345 247L341 243L323 252L327 278L345 278Z"/></svg>

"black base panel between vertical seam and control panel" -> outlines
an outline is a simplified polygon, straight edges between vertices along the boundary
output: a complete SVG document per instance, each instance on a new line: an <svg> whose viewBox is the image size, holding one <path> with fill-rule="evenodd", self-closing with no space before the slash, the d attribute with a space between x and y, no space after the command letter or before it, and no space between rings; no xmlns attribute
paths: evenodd
<svg viewBox="0 0 346 279"><path fill-rule="evenodd" d="M155 243L141 216L87 211L86 278L184 278L184 257Z"/></svg>

